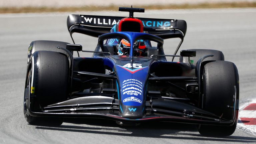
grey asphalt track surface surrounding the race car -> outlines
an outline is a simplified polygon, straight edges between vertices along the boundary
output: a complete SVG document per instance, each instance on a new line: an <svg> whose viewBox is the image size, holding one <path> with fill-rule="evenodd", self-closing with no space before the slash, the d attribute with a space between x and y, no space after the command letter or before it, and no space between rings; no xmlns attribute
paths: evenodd
<svg viewBox="0 0 256 144"><path fill-rule="evenodd" d="M127 16L125 12L79 12ZM216 49L234 62L240 77L240 105L256 97L256 9L157 10L136 17L184 19L187 34L181 49ZM68 13L0 14L0 143L256 143L256 136L237 129L224 138L203 137L196 125L146 123L122 127L107 120L66 120L59 127L29 125L23 116L28 45L33 40L71 43ZM97 38L74 35L84 50ZM174 44L175 43L175 44ZM173 54L177 40L164 43ZM83 54L90 56L90 54Z"/></svg>

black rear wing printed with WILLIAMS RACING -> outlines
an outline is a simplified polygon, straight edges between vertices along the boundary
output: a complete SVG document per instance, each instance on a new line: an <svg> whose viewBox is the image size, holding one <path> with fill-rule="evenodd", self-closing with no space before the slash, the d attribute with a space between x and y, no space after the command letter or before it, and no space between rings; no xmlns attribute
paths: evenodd
<svg viewBox="0 0 256 144"><path fill-rule="evenodd" d="M93 37L109 33L111 28L124 17L116 16L94 16L71 14L67 19L67 26L70 35L72 33L82 33ZM176 19L151 19L138 18L142 21L144 31L149 34L167 38L183 39L187 31L187 23L184 20Z"/></svg>

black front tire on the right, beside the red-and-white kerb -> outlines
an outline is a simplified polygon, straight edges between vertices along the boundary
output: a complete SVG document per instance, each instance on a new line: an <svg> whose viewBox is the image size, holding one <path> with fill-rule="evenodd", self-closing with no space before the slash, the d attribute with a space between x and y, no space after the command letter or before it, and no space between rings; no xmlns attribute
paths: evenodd
<svg viewBox="0 0 256 144"><path fill-rule="evenodd" d="M202 79L203 109L218 116L222 115L223 120L232 120L234 111L228 107L234 106L235 99L237 104L239 100L239 76L235 64L227 61L206 63ZM236 129L237 117L238 114L231 126L199 125L198 131L205 136L232 135Z"/></svg>

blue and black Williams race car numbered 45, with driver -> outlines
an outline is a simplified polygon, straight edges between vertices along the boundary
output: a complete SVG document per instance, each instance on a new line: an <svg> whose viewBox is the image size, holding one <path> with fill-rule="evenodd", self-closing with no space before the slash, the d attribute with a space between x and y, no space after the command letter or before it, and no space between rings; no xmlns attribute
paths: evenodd
<svg viewBox="0 0 256 144"><path fill-rule="evenodd" d="M198 124L202 135L231 135L239 103L235 64L224 61L217 50L189 49L176 55L186 34L184 20L134 18L143 8L119 11L129 17L68 16L71 38L74 32L98 37L94 51L58 41L30 44L27 122L60 125L67 117L110 119L120 125L169 121ZM181 39L174 55L164 54L168 38ZM74 51L93 56L73 57ZM179 61L173 62L174 57Z"/></svg>

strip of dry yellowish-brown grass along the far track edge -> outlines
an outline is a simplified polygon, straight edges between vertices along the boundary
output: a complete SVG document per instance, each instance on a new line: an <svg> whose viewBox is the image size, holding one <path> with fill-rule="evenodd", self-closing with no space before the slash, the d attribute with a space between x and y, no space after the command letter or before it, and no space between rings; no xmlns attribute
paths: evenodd
<svg viewBox="0 0 256 144"><path fill-rule="evenodd" d="M110 6L83 6L83 7L2 7L0 13L40 13L40 12L74 12L74 11L118 11L117 5ZM130 7L122 6L122 7ZM180 4L180 5L133 5L146 10L158 9L197 9L197 8L248 8L256 7L256 2L233 2L233 3L200 3L200 4Z"/></svg>

